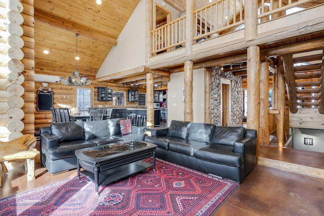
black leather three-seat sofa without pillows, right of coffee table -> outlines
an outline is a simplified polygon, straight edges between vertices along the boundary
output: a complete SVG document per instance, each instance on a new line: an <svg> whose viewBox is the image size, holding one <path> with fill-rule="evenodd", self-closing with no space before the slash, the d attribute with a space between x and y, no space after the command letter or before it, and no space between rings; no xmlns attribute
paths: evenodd
<svg viewBox="0 0 324 216"><path fill-rule="evenodd" d="M244 127L172 120L156 128L156 156L199 171L241 182L256 163L257 131Z"/></svg>

